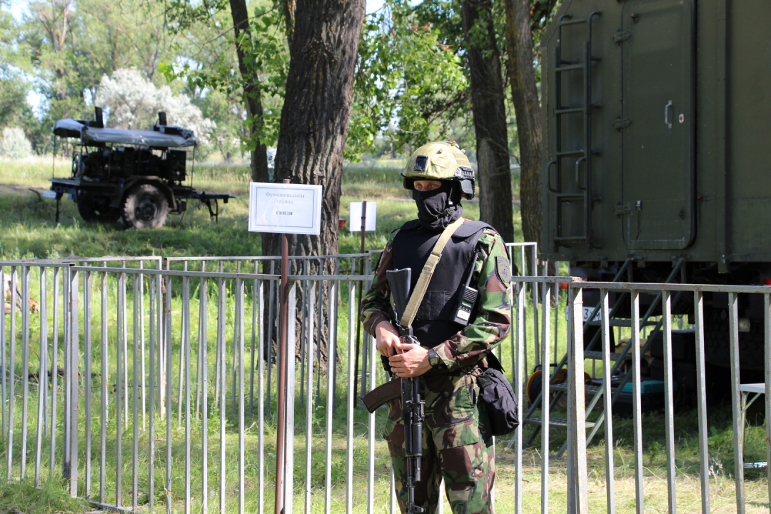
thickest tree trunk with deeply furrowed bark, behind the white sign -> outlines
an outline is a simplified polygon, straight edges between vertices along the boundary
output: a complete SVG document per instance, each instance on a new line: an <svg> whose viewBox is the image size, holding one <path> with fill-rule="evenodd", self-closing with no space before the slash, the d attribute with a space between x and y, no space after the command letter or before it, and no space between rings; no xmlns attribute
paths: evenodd
<svg viewBox="0 0 771 514"><path fill-rule="evenodd" d="M275 181L322 186L318 236L290 235L291 255L338 253L342 159L353 99L353 76L364 22L364 0L297 0ZM264 234L263 254L279 255L281 236ZM326 260L325 272L332 263ZM318 273L308 270L309 273ZM300 301L301 294L298 294ZM325 292L325 304L328 297ZM322 325L326 327L326 323ZM327 354L322 338L322 354ZM325 367L325 359L322 362Z"/></svg>

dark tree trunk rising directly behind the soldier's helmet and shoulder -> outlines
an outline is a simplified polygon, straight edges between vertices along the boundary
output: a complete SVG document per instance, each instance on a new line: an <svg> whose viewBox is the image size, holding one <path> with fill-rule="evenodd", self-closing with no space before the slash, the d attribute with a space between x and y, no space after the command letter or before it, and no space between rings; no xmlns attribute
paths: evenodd
<svg viewBox="0 0 771 514"><path fill-rule="evenodd" d="M460 13L471 73L480 218L495 227L503 240L510 243L514 240L511 172L492 2L465 0Z"/></svg>

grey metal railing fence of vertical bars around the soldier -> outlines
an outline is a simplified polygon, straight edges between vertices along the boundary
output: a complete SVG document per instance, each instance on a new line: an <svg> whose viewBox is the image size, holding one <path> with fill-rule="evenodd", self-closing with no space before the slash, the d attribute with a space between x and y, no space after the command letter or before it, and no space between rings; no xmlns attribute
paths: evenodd
<svg viewBox="0 0 771 514"><path fill-rule="evenodd" d="M523 257L523 250L519 251ZM359 363L351 358L356 351L357 328L357 302L352 299L360 287L368 287L371 279L371 267L364 275L352 273L357 269L353 260L369 262L369 257L357 254L324 258L335 260L339 264L333 269L345 268L348 274L302 273L314 265L311 259L298 259L293 264L292 270L300 273L288 278L288 319L298 322L288 324L288 348L295 348L298 357L285 363L277 362L271 353L272 321L278 316L275 291L279 277L271 272L275 271L275 265L271 270L274 260L248 257L228 261L214 257L197 260L195 267L200 264L201 270L195 271L189 269L194 261L191 259L181 264L167 260L165 266L159 258L148 264L147 260L120 257L0 262L0 294L5 297L10 289L11 306L0 319L0 472L5 472L8 480L34 480L35 485L63 479L71 496L121 511L273 511L275 494L271 487L275 476L271 474L271 463L276 460L276 420L271 402L275 406L277 395L274 375L269 374L271 369L286 365L288 376L294 380L288 381L285 423L287 433L294 437L288 437L284 447L285 475L280 492L284 512L396 512L393 478L384 464L389 462L388 451L378 433L385 412L369 415L359 408L353 392ZM210 260L218 261L217 270L206 270L204 262ZM235 269L226 270L228 262L234 262ZM248 262L247 266L244 262ZM352 265L344 266L346 262ZM316 265L316 269L324 268L320 263ZM560 284L567 287L567 324L558 315L564 312L564 304L554 301ZM632 342L624 352L631 352L635 371L631 381L637 512L643 512L645 484L649 482L642 461L639 293L663 291L669 512L675 512L676 479L682 475L675 466L678 443L672 401L672 294L691 294L697 306L697 476L702 512L709 512L710 499L702 293L729 294L733 482L737 512L744 512L747 499L743 489L736 298L741 293L764 295L766 355L771 355L769 288L586 283L571 277L513 278L513 329L498 352L502 362L511 359L510 376L520 398L522 419L528 364L547 365L556 361L557 351L567 351L567 461L555 462L557 436L551 424L554 413L550 412L549 402L544 401L540 452L524 448L523 437L530 430L524 423L510 438L513 484L508 489L507 479L500 475L495 493L497 511L519 514L534 504L540 505L541 512L557 510L554 502L550 507L550 495L564 495L568 512L589 512L590 506L592 512L597 512L599 500L597 495L590 495L588 469L604 475L601 509L616 509L616 421L614 416L605 417L604 451L587 448L588 427L598 420L587 422L584 381L574 379L582 377L587 369L582 313L582 292L586 288L599 289L601 296L603 377L611 375L613 364L608 294L630 292ZM560 324L565 328L565 338L558 341ZM326 373L322 372L322 344L318 344L324 337L328 341L328 360L336 363ZM376 365L379 359L372 338L366 336L362 342L361 388L367 391L387 378ZM769 398L768 359L765 365ZM551 394L549 382L544 380L542 384L544 398ZM611 412L611 399L617 394L611 389L611 381L604 381L602 387L604 410L600 416ZM766 401L767 418L769 405ZM771 440L768 428L766 435ZM499 455L506 454L502 441L497 448ZM601 464L588 462L588 453L601 455ZM530 455L530 464L524 462L524 455ZM564 469L565 479L555 478L554 465ZM540 486L537 490L526 488L525 473L538 467Z"/></svg>

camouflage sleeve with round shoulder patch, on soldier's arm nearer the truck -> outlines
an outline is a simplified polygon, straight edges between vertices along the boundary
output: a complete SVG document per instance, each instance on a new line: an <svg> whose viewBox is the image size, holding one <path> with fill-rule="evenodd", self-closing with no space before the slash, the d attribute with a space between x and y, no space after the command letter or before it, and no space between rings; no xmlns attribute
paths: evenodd
<svg viewBox="0 0 771 514"><path fill-rule="evenodd" d="M506 246L500 235L487 229L476 248L480 250L472 276L480 294L476 317L463 331L436 346L436 354L449 371L476 365L510 330L511 269Z"/></svg>

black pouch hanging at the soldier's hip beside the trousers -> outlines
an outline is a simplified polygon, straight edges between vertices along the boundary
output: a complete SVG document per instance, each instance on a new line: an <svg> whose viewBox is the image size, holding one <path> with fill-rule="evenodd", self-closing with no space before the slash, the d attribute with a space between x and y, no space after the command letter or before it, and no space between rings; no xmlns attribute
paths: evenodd
<svg viewBox="0 0 771 514"><path fill-rule="evenodd" d="M520 425L517 417L517 397L495 355L487 357L490 368L476 378L480 386L480 400L485 405L493 435L507 435Z"/></svg>

